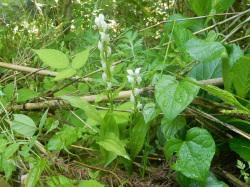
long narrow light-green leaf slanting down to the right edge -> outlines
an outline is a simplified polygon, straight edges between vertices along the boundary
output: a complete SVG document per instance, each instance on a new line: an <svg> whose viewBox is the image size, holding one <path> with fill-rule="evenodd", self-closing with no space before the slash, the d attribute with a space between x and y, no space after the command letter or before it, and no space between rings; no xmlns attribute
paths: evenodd
<svg viewBox="0 0 250 187"><path fill-rule="evenodd" d="M220 88L213 86L213 85L207 85L207 86L201 86L201 87L202 87L202 89L206 90L211 95L219 97L225 103L232 105L232 106L235 106L238 109L249 112L249 110L246 107L244 107L243 105L241 105L239 103L239 101L230 92L223 90L223 89L220 89Z"/></svg>

